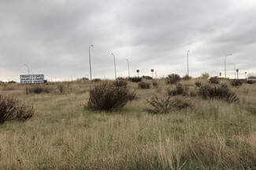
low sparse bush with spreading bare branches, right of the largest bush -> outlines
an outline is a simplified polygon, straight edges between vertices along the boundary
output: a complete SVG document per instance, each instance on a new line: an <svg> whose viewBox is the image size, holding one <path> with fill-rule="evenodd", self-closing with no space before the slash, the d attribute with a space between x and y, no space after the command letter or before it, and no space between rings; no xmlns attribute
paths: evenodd
<svg viewBox="0 0 256 170"><path fill-rule="evenodd" d="M153 109L145 109L150 114L168 114L173 110L183 110L187 107L193 107L190 101L186 98L158 98L158 96L147 99Z"/></svg>

